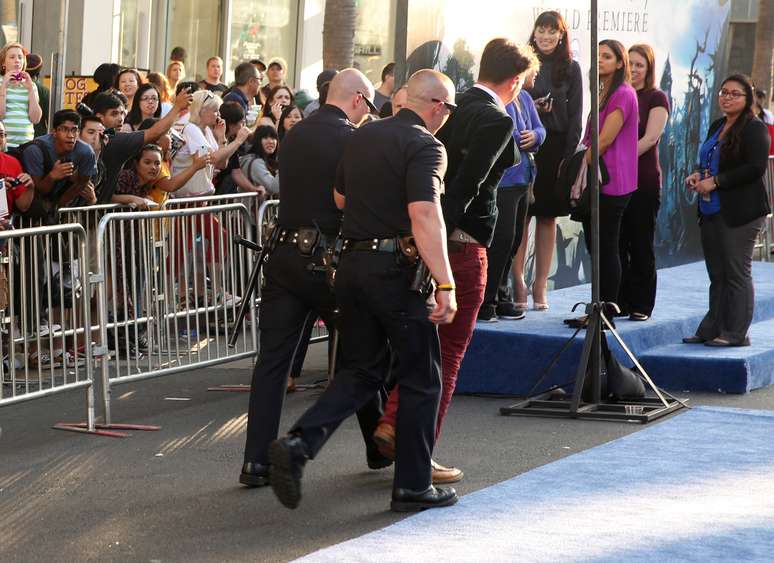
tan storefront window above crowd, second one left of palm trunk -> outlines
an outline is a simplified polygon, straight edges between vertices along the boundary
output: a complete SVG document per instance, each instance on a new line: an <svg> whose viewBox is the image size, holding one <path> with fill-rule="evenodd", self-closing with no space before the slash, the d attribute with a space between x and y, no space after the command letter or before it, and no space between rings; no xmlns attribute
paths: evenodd
<svg viewBox="0 0 774 563"><path fill-rule="evenodd" d="M220 55L222 0L170 0L167 53L183 47L186 78L201 80L207 59Z"/></svg>

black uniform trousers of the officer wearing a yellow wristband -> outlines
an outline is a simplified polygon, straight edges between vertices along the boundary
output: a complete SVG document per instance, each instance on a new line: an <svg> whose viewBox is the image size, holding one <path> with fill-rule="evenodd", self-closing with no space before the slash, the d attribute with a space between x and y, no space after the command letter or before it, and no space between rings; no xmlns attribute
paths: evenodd
<svg viewBox="0 0 774 563"><path fill-rule="evenodd" d="M395 255L351 251L336 274L341 369L319 401L296 422L310 458L348 416L384 384L390 349L399 366L394 486L425 490L441 397L438 330L427 302L409 290L412 269Z"/></svg>

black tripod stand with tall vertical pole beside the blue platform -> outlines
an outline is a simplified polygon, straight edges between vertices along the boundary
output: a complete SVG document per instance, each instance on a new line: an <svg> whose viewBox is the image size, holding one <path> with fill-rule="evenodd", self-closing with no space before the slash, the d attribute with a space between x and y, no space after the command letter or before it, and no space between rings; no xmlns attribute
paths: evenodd
<svg viewBox="0 0 774 563"><path fill-rule="evenodd" d="M598 44L598 0L591 0L590 10L591 25L591 72L590 80L592 84L599 83L599 67L596 64L599 55ZM581 353L580 363L575 375L572 396L560 400L550 400L552 391L564 387L565 385L554 386L537 395L529 394L526 400L500 409L503 415L528 415L528 416L553 416L565 418L593 418L602 420L635 420L641 423L650 422L656 418L665 416L680 408L686 407L685 402L680 401L673 396L660 390L645 369L637 361L637 358L629 350L621 336L615 331L612 323L605 317L605 303L600 299L599 292L599 90L591 88L591 162L589 167L591 177L588 182L589 195L591 196L591 303L586 304L586 314L588 315L588 325L586 338L583 343L583 352ZM612 307L610 307L612 305ZM578 305L573 307L575 310ZM614 304L609 304L609 308L617 309ZM629 359L632 360L638 370L639 376L643 382L655 393L655 397L646 397L634 400L616 400L610 401L608 397L602 394L602 338L603 329L610 332L624 349ZM550 369L556 364L559 357L567 350L569 344L578 334L580 329L569 339L565 346L560 350L557 356L544 372L540 380L535 384L533 390L540 386ZM605 342L605 349L607 343ZM584 386L587 385L586 379L589 378L588 387L590 393L583 400ZM570 383L566 384L570 385Z"/></svg>

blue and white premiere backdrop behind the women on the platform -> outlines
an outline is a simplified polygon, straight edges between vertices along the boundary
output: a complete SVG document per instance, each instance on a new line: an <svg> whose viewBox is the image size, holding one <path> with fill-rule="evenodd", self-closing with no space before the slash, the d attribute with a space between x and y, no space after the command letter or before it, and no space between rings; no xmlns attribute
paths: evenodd
<svg viewBox="0 0 774 563"><path fill-rule="evenodd" d="M656 84L671 100L672 112L660 146L663 188L656 227L659 268L701 259L696 195L683 179L693 171L711 116L717 114L717 90L728 74L728 0L600 0L599 38L627 47L648 43L656 53ZM409 74L435 68L458 91L474 82L487 41L508 37L529 40L537 16L560 12L569 26L573 56L583 69L588 92L591 18L582 0L410 0L407 31ZM584 123L590 95L584 98ZM532 238L530 238L532 240ZM532 273L532 249L528 270ZM557 222L557 251L550 282L554 289L586 281L590 261L580 223Z"/></svg>

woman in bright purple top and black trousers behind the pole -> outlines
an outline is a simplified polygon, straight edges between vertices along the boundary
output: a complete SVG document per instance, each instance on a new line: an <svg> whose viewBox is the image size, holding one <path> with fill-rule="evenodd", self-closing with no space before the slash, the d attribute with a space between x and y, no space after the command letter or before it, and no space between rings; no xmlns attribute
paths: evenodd
<svg viewBox="0 0 774 563"><path fill-rule="evenodd" d="M629 55L618 41L599 42L599 154L610 181L599 194L599 268L600 298L604 302L618 299L621 283L621 256L618 251L621 219L631 194L637 189L637 93L630 85ZM586 128L584 144L591 145L591 132ZM591 164L591 149L586 153ZM590 218L583 220L586 247L591 250ZM612 319L612 311L605 311ZM571 326L585 323L573 319Z"/></svg>

